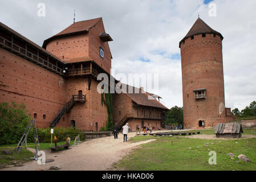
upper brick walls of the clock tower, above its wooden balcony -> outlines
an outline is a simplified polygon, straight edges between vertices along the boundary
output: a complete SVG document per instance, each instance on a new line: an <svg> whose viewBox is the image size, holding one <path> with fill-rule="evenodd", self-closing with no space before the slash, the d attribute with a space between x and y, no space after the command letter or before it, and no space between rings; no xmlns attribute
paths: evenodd
<svg viewBox="0 0 256 182"><path fill-rule="evenodd" d="M67 63L75 61L67 59L89 56L101 68L110 73L111 51L108 42L101 42L99 38L101 32L105 32L102 19L88 33L52 40L47 44L46 50L59 57L59 59L64 59ZM104 50L104 59L100 57L100 47Z"/></svg>

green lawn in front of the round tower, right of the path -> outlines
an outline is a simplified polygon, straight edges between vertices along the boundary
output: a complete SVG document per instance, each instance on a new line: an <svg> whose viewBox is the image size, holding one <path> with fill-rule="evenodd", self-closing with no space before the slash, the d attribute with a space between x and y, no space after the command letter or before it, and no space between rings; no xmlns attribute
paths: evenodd
<svg viewBox="0 0 256 182"><path fill-rule="evenodd" d="M209 130L205 131L205 133L211 133ZM255 129L245 129L244 132L244 134L256 135ZM205 134L204 132L202 133ZM152 138L156 139L156 141L142 144L140 148L133 150L131 154L113 164L113 168L128 171L256 170L256 138L208 140L181 136L180 138L136 136L129 141L140 142ZM205 147L205 143L209 143L208 147ZM196 148L197 146L199 148ZM188 149L190 147L191 149ZM216 165L208 163L210 151L216 151ZM226 155L230 152L235 154L234 159ZM251 159L251 163L239 160L237 156L240 154L248 156Z"/></svg>

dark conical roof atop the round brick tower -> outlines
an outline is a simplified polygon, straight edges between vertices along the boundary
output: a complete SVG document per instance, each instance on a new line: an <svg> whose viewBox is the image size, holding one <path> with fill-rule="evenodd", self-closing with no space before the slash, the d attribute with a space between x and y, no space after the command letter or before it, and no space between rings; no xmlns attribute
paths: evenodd
<svg viewBox="0 0 256 182"><path fill-rule="evenodd" d="M188 34L186 34L185 38L180 41L180 44L190 36L198 34L217 34L221 36L222 40L224 39L220 32L213 30L213 28L209 27L208 24L206 24L201 18L198 17L192 28L190 28Z"/></svg>

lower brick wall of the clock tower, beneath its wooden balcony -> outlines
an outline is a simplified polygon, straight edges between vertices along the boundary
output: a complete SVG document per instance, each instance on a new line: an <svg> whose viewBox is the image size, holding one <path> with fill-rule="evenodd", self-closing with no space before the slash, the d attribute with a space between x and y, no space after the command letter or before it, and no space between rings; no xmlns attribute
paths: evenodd
<svg viewBox="0 0 256 182"><path fill-rule="evenodd" d="M97 92L97 82L92 79L91 89L88 90L88 77L68 78L67 80L67 102L72 95L82 90L86 95L86 103L76 103L68 113L68 121L75 121L75 126L84 131L99 131L105 127L108 119L107 107L101 105L101 94ZM97 123L97 124L96 124Z"/></svg>

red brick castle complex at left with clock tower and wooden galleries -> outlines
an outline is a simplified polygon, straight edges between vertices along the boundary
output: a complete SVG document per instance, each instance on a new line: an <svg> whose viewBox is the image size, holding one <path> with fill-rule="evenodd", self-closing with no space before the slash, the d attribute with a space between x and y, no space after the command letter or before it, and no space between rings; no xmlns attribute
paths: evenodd
<svg viewBox="0 0 256 182"><path fill-rule="evenodd" d="M0 102L24 103L38 127L99 131L110 114L105 94L97 92L99 73L110 78L110 41L102 18L74 22L42 47L0 23ZM161 128L168 109L157 100L144 101L147 93L112 96L111 114L119 125Z"/></svg>

